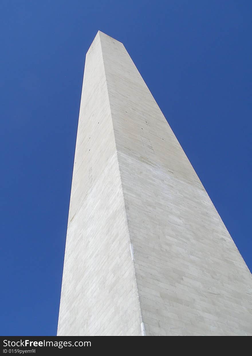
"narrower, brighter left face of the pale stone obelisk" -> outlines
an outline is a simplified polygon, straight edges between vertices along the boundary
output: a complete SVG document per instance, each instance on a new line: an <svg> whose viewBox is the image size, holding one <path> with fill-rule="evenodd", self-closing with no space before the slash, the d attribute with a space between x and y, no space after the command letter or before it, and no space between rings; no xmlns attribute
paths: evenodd
<svg viewBox="0 0 252 356"><path fill-rule="evenodd" d="M86 54L57 335L141 335L99 34Z"/></svg>

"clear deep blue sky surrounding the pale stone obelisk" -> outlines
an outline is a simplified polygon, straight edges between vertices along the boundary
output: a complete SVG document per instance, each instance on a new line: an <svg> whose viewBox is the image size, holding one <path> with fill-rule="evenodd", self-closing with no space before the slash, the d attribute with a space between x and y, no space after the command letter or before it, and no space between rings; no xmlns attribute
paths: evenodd
<svg viewBox="0 0 252 356"><path fill-rule="evenodd" d="M251 1L0 2L0 335L55 335L85 53L124 43L248 267Z"/></svg>

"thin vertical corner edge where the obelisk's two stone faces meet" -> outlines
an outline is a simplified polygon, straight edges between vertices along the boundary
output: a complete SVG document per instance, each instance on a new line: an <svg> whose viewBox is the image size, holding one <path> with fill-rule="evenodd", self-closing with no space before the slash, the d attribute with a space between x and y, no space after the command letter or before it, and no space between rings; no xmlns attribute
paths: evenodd
<svg viewBox="0 0 252 356"><path fill-rule="evenodd" d="M100 38L100 46L101 46L100 31L99 31L99 38ZM101 56L103 58L103 47L102 46L101 46ZM103 58L103 67L104 67L104 74L105 74L105 83L106 83L106 87L107 87L107 78L106 78L106 70L105 70L104 58ZM108 96L108 99L109 99L109 90L108 90L108 88L107 88L107 96ZM113 125L113 119L112 119L110 100L109 100L109 108L110 108L110 115L111 115L111 121L112 121L112 127L113 127L114 139L115 139L115 131L114 131L114 125ZM115 140L115 147L116 147L116 140ZM117 164L118 164L119 174L120 174L120 183L121 183L121 188L122 188L121 171L120 171L119 159L118 159L118 154L117 154L117 147L116 147L116 157L117 157ZM124 200L124 191L123 191L123 189L122 189L122 197L123 197L123 200ZM125 217L126 217L126 223L127 223L127 229L128 229L128 218L127 218L127 213L126 213L125 200L124 200L124 211L125 211ZM130 231L129 230L128 230L128 238L130 240ZM130 253L131 253L131 259L132 259L132 262L133 262L133 269L134 269L134 274L135 274L135 282L136 282L136 289L137 289L137 299L138 299L138 305L139 305L139 310L140 310L140 319L141 319L141 324L140 324L141 335L142 336L146 336L145 327L144 327L143 319L142 319L141 305L140 305L140 300L139 300L139 293L138 293L137 280L136 280L136 271L135 271L135 263L134 263L133 245L131 243L131 240L130 240L130 244L129 244L129 249L130 249Z"/></svg>

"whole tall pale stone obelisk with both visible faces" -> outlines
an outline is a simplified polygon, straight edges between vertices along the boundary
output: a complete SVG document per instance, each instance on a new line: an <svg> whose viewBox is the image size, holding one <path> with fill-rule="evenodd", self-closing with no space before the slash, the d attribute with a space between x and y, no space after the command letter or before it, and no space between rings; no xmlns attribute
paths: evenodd
<svg viewBox="0 0 252 356"><path fill-rule="evenodd" d="M251 335L252 276L122 43L86 54L58 335Z"/></svg>

